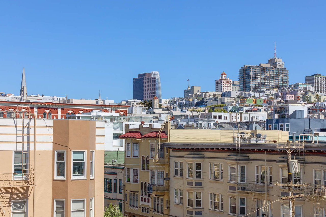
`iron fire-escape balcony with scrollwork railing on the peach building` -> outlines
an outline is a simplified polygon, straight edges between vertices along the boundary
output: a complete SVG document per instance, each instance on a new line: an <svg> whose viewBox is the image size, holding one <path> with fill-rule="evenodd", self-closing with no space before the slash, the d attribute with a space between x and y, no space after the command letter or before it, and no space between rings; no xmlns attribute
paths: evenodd
<svg viewBox="0 0 326 217"><path fill-rule="evenodd" d="M34 186L34 173L0 173L0 187Z"/></svg>

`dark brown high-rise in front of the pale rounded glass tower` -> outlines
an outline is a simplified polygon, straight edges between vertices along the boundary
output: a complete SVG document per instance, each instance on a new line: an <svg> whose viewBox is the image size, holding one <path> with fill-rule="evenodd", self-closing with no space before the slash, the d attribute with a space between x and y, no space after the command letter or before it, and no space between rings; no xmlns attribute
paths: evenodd
<svg viewBox="0 0 326 217"><path fill-rule="evenodd" d="M134 78L134 99L151 100L156 95L156 77L142 73Z"/></svg>

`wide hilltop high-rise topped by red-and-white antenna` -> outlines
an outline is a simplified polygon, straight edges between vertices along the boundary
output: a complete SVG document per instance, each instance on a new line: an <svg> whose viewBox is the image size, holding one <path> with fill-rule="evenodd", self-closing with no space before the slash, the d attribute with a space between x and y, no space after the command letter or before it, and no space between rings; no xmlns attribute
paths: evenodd
<svg viewBox="0 0 326 217"><path fill-rule="evenodd" d="M284 67L282 58L274 57L267 64L244 65L239 69L239 83L242 91L256 91L260 89L273 89L289 85L289 71Z"/></svg>

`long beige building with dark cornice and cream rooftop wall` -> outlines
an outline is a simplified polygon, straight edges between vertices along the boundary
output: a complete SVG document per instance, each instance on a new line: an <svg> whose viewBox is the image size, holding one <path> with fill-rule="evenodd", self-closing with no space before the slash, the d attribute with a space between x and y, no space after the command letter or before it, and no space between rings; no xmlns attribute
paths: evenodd
<svg viewBox="0 0 326 217"><path fill-rule="evenodd" d="M279 199L289 195L287 153L276 147L288 133L242 132L266 138L241 141L232 130L170 130L164 147L170 150L171 216L289 216L289 200ZM306 143L303 152L301 143L292 153L300 162L300 172L292 173L299 184L294 193L304 194L295 199L296 217L325 216L325 148Z"/></svg>

